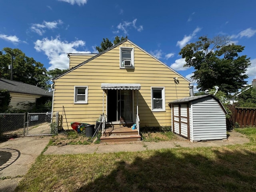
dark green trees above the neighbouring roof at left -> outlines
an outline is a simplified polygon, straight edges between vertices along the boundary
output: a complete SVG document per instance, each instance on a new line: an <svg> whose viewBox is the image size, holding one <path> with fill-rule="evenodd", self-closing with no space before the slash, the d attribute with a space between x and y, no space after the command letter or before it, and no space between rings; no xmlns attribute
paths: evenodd
<svg viewBox="0 0 256 192"><path fill-rule="evenodd" d="M47 88L47 71L44 65L26 56L19 49L3 48L0 52L0 72L3 78L10 79L11 72L8 65L12 63L13 80Z"/></svg>

